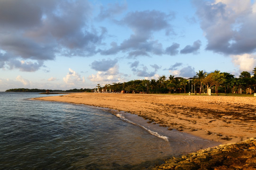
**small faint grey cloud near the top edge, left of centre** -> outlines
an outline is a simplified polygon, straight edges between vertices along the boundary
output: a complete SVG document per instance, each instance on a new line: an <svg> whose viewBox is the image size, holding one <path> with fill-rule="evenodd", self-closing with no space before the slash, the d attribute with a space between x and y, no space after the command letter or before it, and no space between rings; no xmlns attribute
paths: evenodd
<svg viewBox="0 0 256 170"><path fill-rule="evenodd" d="M111 4L108 4L107 7L101 6L101 12L98 15L98 17L96 17L96 19L104 20L106 18L111 18L115 15L119 15L123 11L125 11L127 9L127 7L128 7L128 5L126 2L123 4L111 3Z"/></svg>

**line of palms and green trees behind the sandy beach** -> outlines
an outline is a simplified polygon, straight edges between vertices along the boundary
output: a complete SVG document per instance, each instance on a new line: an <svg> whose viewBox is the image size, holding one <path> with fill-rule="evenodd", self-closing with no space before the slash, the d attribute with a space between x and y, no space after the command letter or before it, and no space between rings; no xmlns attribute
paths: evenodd
<svg viewBox="0 0 256 170"><path fill-rule="evenodd" d="M206 73L199 70L194 77L183 78L170 75L159 76L151 80L131 80L124 83L112 83L96 86L94 92L123 93L256 93L256 67L253 75L247 71L234 75L218 70Z"/></svg>

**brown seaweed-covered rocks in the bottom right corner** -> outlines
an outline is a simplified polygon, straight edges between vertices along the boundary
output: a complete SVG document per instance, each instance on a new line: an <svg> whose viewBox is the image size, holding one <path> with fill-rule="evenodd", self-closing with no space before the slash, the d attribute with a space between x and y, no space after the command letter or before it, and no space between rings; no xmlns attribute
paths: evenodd
<svg viewBox="0 0 256 170"><path fill-rule="evenodd" d="M173 157L152 170L256 170L256 138Z"/></svg>

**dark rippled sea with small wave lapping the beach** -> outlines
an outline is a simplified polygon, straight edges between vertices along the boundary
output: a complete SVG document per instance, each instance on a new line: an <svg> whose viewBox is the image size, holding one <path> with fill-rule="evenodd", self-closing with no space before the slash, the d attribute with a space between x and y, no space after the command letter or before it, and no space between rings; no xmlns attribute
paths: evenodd
<svg viewBox="0 0 256 170"><path fill-rule="evenodd" d="M217 145L135 114L0 92L0 170L142 170Z"/></svg>

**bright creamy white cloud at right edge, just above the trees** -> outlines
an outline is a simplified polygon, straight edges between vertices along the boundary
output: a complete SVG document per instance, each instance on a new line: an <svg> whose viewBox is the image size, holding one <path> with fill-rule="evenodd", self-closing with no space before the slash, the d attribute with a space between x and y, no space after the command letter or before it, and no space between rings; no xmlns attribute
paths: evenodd
<svg viewBox="0 0 256 170"><path fill-rule="evenodd" d="M231 55L232 62L239 67L239 71L252 72L256 66L256 55L243 54L243 55Z"/></svg>

